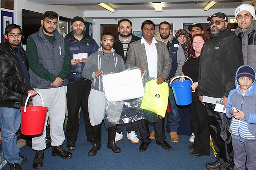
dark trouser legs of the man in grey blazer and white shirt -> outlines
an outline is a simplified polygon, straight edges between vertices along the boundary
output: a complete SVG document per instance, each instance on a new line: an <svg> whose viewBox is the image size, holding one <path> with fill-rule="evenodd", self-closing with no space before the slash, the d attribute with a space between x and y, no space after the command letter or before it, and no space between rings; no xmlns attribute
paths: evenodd
<svg viewBox="0 0 256 170"><path fill-rule="evenodd" d="M148 128L148 121L142 119L139 121L139 129L140 129L140 140L142 142L151 143L151 139L149 138L150 132ZM165 141L165 133L164 133L164 119L160 119L157 122L154 122L154 130L155 130L155 138L157 142Z"/></svg>

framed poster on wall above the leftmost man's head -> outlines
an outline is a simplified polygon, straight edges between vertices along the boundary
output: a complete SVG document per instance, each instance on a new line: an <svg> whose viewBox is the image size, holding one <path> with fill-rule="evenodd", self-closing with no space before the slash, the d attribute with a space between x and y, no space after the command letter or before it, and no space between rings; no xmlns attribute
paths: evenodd
<svg viewBox="0 0 256 170"><path fill-rule="evenodd" d="M7 25L13 23L13 12L1 11L1 36L2 43L4 42L4 29Z"/></svg>

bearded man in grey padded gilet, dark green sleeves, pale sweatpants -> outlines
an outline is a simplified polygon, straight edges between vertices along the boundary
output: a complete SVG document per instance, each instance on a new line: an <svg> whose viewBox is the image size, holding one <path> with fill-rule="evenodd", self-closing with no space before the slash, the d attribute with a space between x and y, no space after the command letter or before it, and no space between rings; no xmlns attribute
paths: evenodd
<svg viewBox="0 0 256 170"><path fill-rule="evenodd" d="M63 123L66 113L67 77L71 65L70 54L64 37L56 30L58 14L46 11L41 25L39 31L30 35L27 40L31 86L42 94L44 106L49 108L42 135L32 138L32 149L36 150L33 161L35 169L43 166L48 117L50 118L52 156L60 156L64 159L72 157L72 153L62 148L65 140ZM41 105L39 96L33 98L33 105Z"/></svg>

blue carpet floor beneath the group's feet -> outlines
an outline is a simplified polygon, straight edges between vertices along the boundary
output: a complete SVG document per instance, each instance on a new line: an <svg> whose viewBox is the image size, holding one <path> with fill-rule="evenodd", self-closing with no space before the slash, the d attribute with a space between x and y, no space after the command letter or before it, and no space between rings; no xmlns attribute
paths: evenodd
<svg viewBox="0 0 256 170"><path fill-rule="evenodd" d="M81 115L81 120L83 117ZM152 126L150 126L150 132ZM116 145L122 149L121 153L114 153L107 148L107 131L102 125L101 149L95 156L88 156L88 151L92 145L86 141L84 122L81 121L78 139L76 141L76 150L71 151L73 157L65 160L60 156L53 157L52 149L46 149L44 152L44 166L42 170L205 170L207 162L214 162L214 155L207 157L194 158L190 156L187 147L190 136L179 135L180 142L172 143L170 134L166 133L166 141L173 147L173 150L164 150L156 145L156 140L148 146L145 152L139 152L139 144L133 144L126 138L127 132L124 127L124 139L118 141ZM139 133L137 133L140 139ZM66 149L67 142L64 141L63 148ZM20 154L26 155L28 161L22 164L23 170L33 170L32 164L35 151L30 147L20 148ZM5 170L9 166L4 167Z"/></svg>

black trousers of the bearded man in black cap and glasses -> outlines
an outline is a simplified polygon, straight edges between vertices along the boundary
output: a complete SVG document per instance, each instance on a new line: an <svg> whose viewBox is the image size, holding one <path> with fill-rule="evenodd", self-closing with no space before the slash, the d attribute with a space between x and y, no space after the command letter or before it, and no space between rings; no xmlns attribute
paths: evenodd
<svg viewBox="0 0 256 170"><path fill-rule="evenodd" d="M233 147L231 134L229 132L231 119L225 113L214 111L215 104L205 103L208 125L212 137L216 159L220 160L220 170L233 170Z"/></svg>

